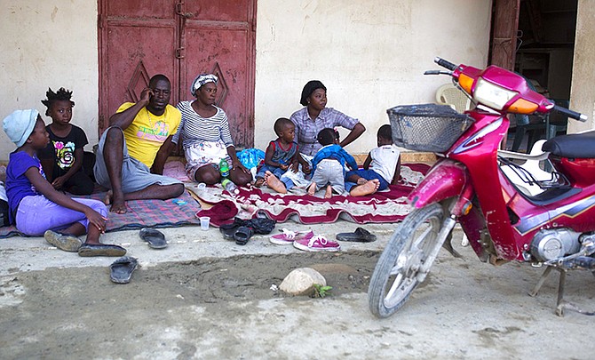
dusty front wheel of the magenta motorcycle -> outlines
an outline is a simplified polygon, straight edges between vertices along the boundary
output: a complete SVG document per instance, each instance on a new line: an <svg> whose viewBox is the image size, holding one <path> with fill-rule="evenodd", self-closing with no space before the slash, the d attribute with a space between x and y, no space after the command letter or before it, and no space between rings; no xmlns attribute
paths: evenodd
<svg viewBox="0 0 595 360"><path fill-rule="evenodd" d="M417 274L428 255L440 246L444 212L431 204L411 212L382 252L368 288L369 309L377 317L393 315L419 283Z"/></svg>

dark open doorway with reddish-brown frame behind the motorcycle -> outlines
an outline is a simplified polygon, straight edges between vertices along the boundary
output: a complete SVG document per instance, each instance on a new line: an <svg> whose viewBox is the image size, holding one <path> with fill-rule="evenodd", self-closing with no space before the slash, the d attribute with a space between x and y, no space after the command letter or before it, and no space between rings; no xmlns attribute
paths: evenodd
<svg viewBox="0 0 595 360"><path fill-rule="evenodd" d="M490 62L514 69L537 92L567 108L577 0L495 0L493 5ZM513 150L529 151L536 140L550 139L567 128L567 117L559 113L529 116L520 124L516 124L517 117L511 120L507 143L516 144Z"/></svg>

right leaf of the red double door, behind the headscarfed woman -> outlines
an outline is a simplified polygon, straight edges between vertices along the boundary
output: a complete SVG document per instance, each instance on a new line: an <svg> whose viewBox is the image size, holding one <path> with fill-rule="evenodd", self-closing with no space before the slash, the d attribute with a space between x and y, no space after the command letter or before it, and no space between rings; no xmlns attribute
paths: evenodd
<svg viewBox="0 0 595 360"><path fill-rule="evenodd" d="M254 19L253 0L186 0L182 20L185 61L181 64L183 91L202 73L218 76L218 107L226 111L236 146L254 143Z"/></svg>

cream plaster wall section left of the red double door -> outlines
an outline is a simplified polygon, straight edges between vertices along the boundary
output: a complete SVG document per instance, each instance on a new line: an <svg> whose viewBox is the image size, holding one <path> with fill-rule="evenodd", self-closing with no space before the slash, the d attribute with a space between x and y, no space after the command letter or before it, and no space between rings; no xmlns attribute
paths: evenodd
<svg viewBox="0 0 595 360"><path fill-rule="evenodd" d="M36 108L45 124L48 87L73 91L73 124L97 142L97 2L4 0L0 12L0 119L17 108ZM0 160L14 144L0 131ZM87 149L91 149L88 145Z"/></svg>

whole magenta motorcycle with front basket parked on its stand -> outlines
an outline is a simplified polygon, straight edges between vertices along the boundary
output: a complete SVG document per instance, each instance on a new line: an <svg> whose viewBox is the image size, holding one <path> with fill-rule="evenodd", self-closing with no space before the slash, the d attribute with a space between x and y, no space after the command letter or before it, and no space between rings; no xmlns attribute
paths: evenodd
<svg viewBox="0 0 595 360"><path fill-rule="evenodd" d="M559 270L559 316L564 308L592 315L564 301L563 293L568 270L595 269L595 132L547 140L537 156L499 150L508 114L559 111L581 121L586 116L556 106L504 68L434 61L447 70L425 75L451 76L474 108L464 114L435 104L387 110L394 143L433 152L438 161L409 194L413 210L377 262L368 291L371 312L386 317L401 308L428 275L440 247L456 255L450 241L458 223L481 261L545 267L533 296L551 270ZM537 178L520 160L544 160L552 171ZM528 187L540 191L525 191Z"/></svg>

